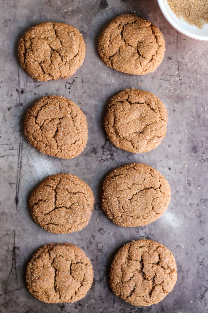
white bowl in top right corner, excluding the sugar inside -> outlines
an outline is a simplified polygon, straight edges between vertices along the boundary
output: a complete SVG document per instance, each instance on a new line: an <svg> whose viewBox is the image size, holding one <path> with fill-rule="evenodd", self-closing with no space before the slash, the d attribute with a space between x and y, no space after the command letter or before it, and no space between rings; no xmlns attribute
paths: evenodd
<svg viewBox="0 0 208 313"><path fill-rule="evenodd" d="M170 9L167 0L157 0L157 2L164 17L178 32L193 39L208 41L208 24L204 24L202 29L199 29L194 25L189 25L182 19L177 18L177 16Z"/></svg>

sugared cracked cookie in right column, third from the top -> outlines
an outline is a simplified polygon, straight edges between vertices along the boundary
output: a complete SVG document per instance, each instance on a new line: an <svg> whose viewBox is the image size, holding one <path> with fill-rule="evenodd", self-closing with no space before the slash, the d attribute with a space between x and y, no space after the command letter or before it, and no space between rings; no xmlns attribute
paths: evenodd
<svg viewBox="0 0 208 313"><path fill-rule="evenodd" d="M154 168L130 163L112 170L105 177L101 198L103 211L115 224L143 226L166 211L171 189Z"/></svg>

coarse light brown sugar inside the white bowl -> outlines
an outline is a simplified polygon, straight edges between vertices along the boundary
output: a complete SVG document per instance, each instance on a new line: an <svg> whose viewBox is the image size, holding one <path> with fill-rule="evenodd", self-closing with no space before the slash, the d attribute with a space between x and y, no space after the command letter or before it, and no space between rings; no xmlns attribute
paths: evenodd
<svg viewBox="0 0 208 313"><path fill-rule="evenodd" d="M202 28L208 23L207 0L167 0L169 7L178 18L183 18L188 24Z"/></svg>

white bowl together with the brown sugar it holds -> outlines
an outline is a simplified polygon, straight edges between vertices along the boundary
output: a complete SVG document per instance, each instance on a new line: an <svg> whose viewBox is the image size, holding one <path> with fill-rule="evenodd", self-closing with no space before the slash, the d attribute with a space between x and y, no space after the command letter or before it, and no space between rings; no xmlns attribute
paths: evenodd
<svg viewBox="0 0 208 313"><path fill-rule="evenodd" d="M178 32L208 41L208 0L157 0L167 21Z"/></svg>

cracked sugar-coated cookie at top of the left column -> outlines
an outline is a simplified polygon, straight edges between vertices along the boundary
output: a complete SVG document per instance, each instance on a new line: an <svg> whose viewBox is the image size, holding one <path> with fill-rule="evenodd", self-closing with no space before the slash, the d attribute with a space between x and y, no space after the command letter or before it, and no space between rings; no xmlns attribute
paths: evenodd
<svg viewBox="0 0 208 313"><path fill-rule="evenodd" d="M85 58L85 42L75 27L46 22L29 28L20 38L18 57L23 69L40 81L73 75Z"/></svg>

